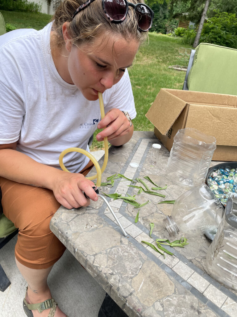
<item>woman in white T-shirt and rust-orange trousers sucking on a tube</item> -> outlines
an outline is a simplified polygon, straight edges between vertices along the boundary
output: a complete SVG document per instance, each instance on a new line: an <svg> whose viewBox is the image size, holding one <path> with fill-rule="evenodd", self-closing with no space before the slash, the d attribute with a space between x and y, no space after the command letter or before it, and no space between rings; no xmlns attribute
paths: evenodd
<svg viewBox="0 0 237 317"><path fill-rule="evenodd" d="M67 173L58 157L68 147L88 150L97 127L105 128L98 141L107 136L119 146L131 138L126 112L134 118L136 110L126 68L152 18L142 3L65 0L44 29L0 37L0 187L3 212L19 228L15 258L28 284L27 316L66 316L47 285L65 250L49 229L50 219L61 204L88 206L82 191L94 201L98 197L85 178L92 162L70 153L64 159ZM102 120L98 92L105 104Z"/></svg>

